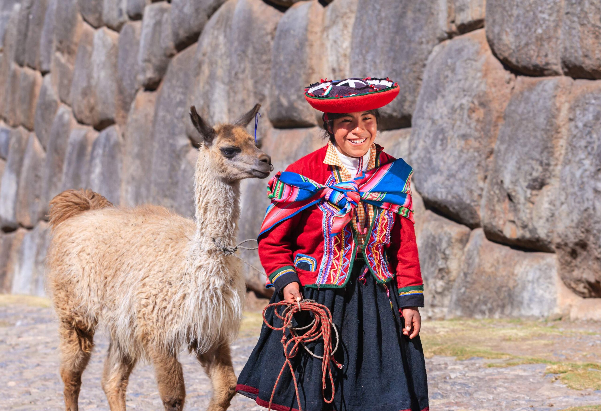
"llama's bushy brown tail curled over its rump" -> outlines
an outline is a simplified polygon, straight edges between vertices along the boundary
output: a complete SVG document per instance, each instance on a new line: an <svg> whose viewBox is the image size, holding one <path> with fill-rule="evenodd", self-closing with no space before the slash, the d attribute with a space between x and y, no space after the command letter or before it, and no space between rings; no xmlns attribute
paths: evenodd
<svg viewBox="0 0 601 411"><path fill-rule="evenodd" d="M94 191L66 190L50 200L50 213L48 215L50 227L55 229L58 224L88 210L112 207L112 203Z"/></svg>

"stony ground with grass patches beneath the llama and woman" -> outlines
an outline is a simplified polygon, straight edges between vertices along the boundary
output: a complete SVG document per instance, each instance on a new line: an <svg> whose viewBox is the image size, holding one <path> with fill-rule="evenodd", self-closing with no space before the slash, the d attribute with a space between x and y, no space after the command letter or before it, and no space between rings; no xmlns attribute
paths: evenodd
<svg viewBox="0 0 601 411"><path fill-rule="evenodd" d="M240 372L254 347L258 324L258 314L249 314L232 347L236 372ZM599 405L601 371L595 368L601 358L598 329L599 324L562 322L426 323L422 335L429 356L431 410L551 411ZM63 409L57 343L56 322L50 308L0 305L0 409ZM81 410L108 410L100 388L107 345L103 336L96 339L83 377ZM457 356L467 359L457 360ZM582 362L589 364L574 368ZM186 409L204 410L210 398L209 379L192 357L183 354L182 363L188 394ZM561 373L547 373L550 367ZM568 385L592 388L571 389ZM136 367L127 404L132 410L162 409L149 365ZM234 397L230 409L263 410L240 395ZM581 408L585 409L589 408Z"/></svg>

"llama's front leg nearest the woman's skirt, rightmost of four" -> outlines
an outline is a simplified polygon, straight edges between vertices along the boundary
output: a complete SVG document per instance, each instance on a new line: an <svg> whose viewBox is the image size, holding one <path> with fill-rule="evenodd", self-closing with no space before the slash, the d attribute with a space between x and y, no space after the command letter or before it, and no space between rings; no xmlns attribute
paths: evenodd
<svg viewBox="0 0 601 411"><path fill-rule="evenodd" d="M208 353L199 354L198 360L209 375L213 397L207 411L225 411L236 394L236 374L231 364L230 345L223 343Z"/></svg>

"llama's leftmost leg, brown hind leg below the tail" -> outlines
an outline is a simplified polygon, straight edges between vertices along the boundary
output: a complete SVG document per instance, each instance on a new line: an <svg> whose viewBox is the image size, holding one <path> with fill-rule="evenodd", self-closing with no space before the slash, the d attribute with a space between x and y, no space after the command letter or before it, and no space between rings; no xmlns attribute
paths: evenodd
<svg viewBox="0 0 601 411"><path fill-rule="evenodd" d="M61 342L61 378L65 385L65 409L78 411L79 389L81 388L81 374L88 365L92 348L94 347L94 331L76 327L67 321L59 325Z"/></svg>

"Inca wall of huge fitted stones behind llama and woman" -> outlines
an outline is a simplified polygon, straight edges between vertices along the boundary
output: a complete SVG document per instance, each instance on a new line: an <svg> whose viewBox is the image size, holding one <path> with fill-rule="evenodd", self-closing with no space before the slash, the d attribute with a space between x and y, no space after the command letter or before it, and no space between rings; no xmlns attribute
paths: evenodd
<svg viewBox="0 0 601 411"><path fill-rule="evenodd" d="M47 203L193 214L194 133L263 104L275 170L322 146L302 89L389 76L430 317L600 317L601 0L4 0L0 291L43 295ZM243 182L254 238L264 180ZM256 252L248 286L265 294Z"/></svg>

